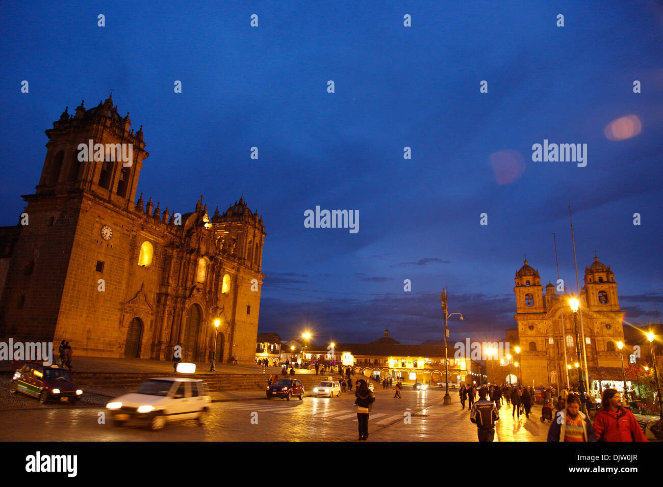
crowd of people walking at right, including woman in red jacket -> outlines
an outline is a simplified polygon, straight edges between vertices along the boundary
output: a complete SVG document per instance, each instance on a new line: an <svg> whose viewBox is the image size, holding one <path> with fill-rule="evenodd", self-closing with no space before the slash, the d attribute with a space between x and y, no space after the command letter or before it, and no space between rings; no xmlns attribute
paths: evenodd
<svg viewBox="0 0 663 487"><path fill-rule="evenodd" d="M475 398L479 394L479 400ZM615 389L603 390L601 407L594 421L581 411L582 401L579 393L564 388L559 394L556 388L542 388L540 396L530 386L501 386L477 388L471 384L463 385L459 391L461 409L470 411L470 421L477 425L479 441L493 441L495 423L503 406L511 406L511 417L524 412L529 418L532 404L536 399L543 403L541 420L550 421L547 441L647 441L633 413L622 404L622 397ZM587 396L591 401L591 396ZM552 402L556 412L552 415ZM546 411L550 413L546 414Z"/></svg>

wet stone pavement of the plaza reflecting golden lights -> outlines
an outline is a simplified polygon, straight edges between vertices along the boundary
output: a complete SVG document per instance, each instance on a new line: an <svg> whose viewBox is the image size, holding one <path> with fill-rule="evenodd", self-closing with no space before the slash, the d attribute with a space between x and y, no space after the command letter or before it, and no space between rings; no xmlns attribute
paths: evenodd
<svg viewBox="0 0 663 487"><path fill-rule="evenodd" d="M377 390L368 441L477 441L469 411L457 397L444 406L444 391L404 390L402 399ZM169 423L162 431L112 425L103 407L48 407L0 411L3 441L357 441L354 394L340 398L217 402L206 423ZM58 406L58 405L54 405ZM545 441L548 423L540 408L530 419L512 419L501 409L495 441Z"/></svg>

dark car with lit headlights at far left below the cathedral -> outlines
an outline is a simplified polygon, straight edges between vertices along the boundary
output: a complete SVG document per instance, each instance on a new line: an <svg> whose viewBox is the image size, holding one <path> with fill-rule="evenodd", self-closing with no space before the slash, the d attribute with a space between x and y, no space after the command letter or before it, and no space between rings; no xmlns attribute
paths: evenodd
<svg viewBox="0 0 663 487"><path fill-rule="evenodd" d="M83 391L69 372L56 365L40 363L27 363L19 368L9 382L9 392L23 392L38 398L41 404L51 400L76 404L83 397Z"/></svg>

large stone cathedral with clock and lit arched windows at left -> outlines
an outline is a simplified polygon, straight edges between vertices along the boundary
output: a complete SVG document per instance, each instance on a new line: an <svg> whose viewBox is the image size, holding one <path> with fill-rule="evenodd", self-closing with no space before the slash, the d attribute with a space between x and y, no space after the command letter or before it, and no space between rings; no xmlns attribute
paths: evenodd
<svg viewBox="0 0 663 487"><path fill-rule="evenodd" d="M46 135L21 221L0 228L0 338L158 360L180 345L185 362L210 360L216 343L217 360L255 363L267 235L257 211L243 198L211 217L202 196L184 214L136 200L143 126L134 133L111 97L66 109ZM105 156L81 157L88 142Z"/></svg>

